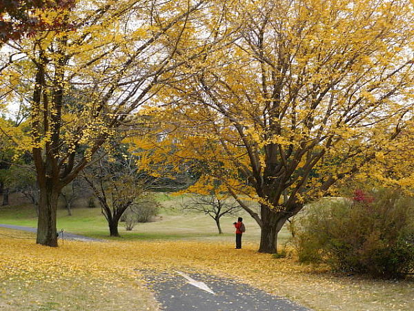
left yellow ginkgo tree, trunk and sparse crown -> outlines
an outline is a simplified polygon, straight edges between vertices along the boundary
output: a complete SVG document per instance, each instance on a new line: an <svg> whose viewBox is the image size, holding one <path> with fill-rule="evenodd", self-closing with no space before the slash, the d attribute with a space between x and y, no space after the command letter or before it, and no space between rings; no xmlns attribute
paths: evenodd
<svg viewBox="0 0 414 311"><path fill-rule="evenodd" d="M10 107L23 98L30 129L21 140L1 123L1 133L17 154L31 153L34 160L37 243L57 246L59 194L92 155L109 150L108 138L128 130L142 104L226 36L221 18L210 14L224 6L204 0L79 0L59 12L70 29L39 30L7 43L0 99ZM37 14L53 20L55 12Z"/></svg>

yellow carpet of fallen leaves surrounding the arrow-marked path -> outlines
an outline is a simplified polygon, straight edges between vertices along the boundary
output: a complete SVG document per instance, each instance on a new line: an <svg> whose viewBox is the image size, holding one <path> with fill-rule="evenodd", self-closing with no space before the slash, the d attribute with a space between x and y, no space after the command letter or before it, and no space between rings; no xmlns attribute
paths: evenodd
<svg viewBox="0 0 414 311"><path fill-rule="evenodd" d="M135 303L132 310L155 310L156 303L142 287L144 278L139 274L139 270L148 269L225 276L315 310L414 310L414 281L335 276L324 267L299 265L292 259L275 259L269 254L259 254L257 245L234 249L234 245L228 242L65 241L63 246L52 248L35 245L32 240L4 239L1 236L0 245L0 284L17 281L19 288L26 289L20 293L24 294L34 283L41 288L48 283L58 286L68 282L76 286L86 282L83 288L95 293L89 297L92 299L89 303L99 295L106 297L109 306L107 309L101 306L100 310L115 310L110 305L117 297L123 301L117 305L119 309L126 303ZM73 283L74 278L79 282ZM141 294L134 296L129 293L129 299L125 298L124 288ZM65 287L59 287L59 290L64 292ZM3 294L0 292L0 309L2 299L3 303L12 301L10 293L3 290ZM57 309L75 310L66 305Z"/></svg>

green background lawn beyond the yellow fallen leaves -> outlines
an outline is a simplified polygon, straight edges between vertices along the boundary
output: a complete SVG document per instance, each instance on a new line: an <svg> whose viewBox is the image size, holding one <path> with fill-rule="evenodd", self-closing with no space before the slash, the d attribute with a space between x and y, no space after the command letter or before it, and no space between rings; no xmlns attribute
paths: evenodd
<svg viewBox="0 0 414 311"><path fill-rule="evenodd" d="M259 225L244 211L237 216L221 218L221 229L224 234L218 234L213 218L200 212L183 211L181 209L181 203L186 196L164 193L155 194L155 196L161 204L159 215L155 217L154 221L137 224L132 231L126 231L124 223L119 223L121 238L109 237L108 223L106 223L106 219L101 214L99 207L72 209L72 216L68 216L66 209L58 209L57 229L63 229L65 232L74 234L112 240L186 238L233 243L235 232L233 222L237 219L237 216L242 216L246 225L244 241L257 243L258 247ZM32 205L1 207L0 223L37 227L34 207ZM285 243L289 236L288 230L282 229L282 232L279 234L279 245Z"/></svg>

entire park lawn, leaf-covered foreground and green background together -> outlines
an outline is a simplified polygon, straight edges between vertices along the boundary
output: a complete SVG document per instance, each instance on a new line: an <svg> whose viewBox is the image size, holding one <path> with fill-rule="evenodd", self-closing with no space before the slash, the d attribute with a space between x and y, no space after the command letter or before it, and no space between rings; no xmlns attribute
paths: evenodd
<svg viewBox="0 0 414 311"><path fill-rule="evenodd" d="M315 310L414 310L414 282L374 281L300 265L294 258L257 253L259 229L243 215L244 249L234 249L232 223L225 234L204 214L182 214L167 198L157 221L103 243L34 243L34 234L0 229L1 310L157 310L139 270L199 271L226 276L293 299ZM30 216L32 212L32 216ZM99 209L59 210L59 228L105 238ZM35 226L32 207L0 209L0 223ZM288 239L285 229L282 245Z"/></svg>

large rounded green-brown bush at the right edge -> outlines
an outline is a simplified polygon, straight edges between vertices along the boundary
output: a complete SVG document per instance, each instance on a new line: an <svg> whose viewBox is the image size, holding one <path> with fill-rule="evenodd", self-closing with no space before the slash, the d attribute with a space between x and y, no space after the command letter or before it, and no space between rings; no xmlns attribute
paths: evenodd
<svg viewBox="0 0 414 311"><path fill-rule="evenodd" d="M299 261L395 279L414 272L414 200L398 191L355 191L315 202L297 221Z"/></svg>

